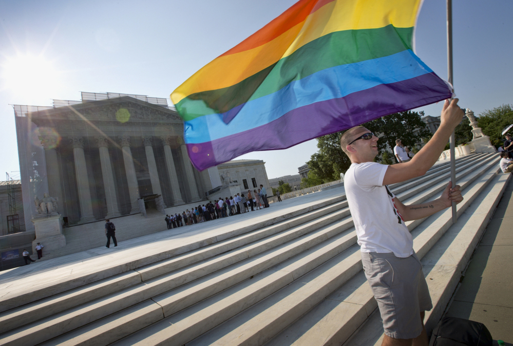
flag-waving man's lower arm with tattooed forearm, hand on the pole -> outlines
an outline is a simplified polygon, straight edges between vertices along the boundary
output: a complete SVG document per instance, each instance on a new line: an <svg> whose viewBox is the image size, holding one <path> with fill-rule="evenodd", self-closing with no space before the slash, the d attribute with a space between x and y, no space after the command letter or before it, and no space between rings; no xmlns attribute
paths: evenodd
<svg viewBox="0 0 513 346"><path fill-rule="evenodd" d="M463 201L460 185L456 185L456 187L453 189L451 189L451 186L452 183L449 182L444 192L442 193L442 196L439 199L431 202L404 205L397 197L395 197L394 203L404 221L423 219L433 215L434 213L440 212L440 210L450 207L451 202L453 201L456 202L456 204Z"/></svg>

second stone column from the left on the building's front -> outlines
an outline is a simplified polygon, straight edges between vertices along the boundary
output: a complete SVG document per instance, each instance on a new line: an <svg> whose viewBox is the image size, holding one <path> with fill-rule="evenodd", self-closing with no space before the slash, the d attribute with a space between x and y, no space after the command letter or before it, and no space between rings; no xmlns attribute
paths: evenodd
<svg viewBox="0 0 513 346"><path fill-rule="evenodd" d="M96 220L92 214L91 192L89 191L89 178L84 155L84 139L72 137L73 158L75 161L75 175L77 176L77 190L79 191L80 222Z"/></svg>

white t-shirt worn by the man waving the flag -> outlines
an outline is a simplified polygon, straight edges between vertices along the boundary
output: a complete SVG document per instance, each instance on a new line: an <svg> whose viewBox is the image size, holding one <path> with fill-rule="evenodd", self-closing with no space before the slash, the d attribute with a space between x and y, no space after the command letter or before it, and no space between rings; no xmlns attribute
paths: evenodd
<svg viewBox="0 0 513 346"><path fill-rule="evenodd" d="M383 179L388 165L353 163L346 172L344 187L362 252L413 254L413 238L394 205L394 194Z"/></svg>

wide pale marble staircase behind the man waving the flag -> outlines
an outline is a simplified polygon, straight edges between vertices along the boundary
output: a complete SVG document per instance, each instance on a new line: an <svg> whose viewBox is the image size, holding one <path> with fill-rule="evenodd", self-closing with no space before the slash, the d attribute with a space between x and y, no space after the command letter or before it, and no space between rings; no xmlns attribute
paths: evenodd
<svg viewBox="0 0 513 346"><path fill-rule="evenodd" d="M428 328L510 178L498 162L494 154L457 160L465 197L458 223L450 210L407 223L435 305ZM390 188L413 204L438 198L448 181L446 162ZM215 239L199 233L179 248L2 295L0 345L379 344L379 315L343 189L322 194L293 212L226 227Z"/></svg>

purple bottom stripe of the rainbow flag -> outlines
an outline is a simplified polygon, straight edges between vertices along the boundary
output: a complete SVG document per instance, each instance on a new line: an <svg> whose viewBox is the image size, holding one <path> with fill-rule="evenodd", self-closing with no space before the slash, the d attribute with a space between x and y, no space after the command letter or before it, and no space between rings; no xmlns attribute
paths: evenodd
<svg viewBox="0 0 513 346"><path fill-rule="evenodd" d="M251 151L286 149L388 114L450 97L447 85L431 72L296 108L268 124L212 142L187 144L187 149L194 166L203 170Z"/></svg>

